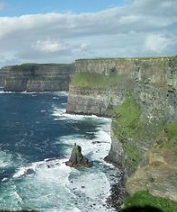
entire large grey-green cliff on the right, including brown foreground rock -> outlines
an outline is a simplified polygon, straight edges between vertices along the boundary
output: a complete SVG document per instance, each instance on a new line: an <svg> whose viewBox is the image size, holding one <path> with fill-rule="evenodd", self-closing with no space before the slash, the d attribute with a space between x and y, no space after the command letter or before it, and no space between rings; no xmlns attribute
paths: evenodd
<svg viewBox="0 0 177 212"><path fill-rule="evenodd" d="M77 60L67 112L112 116L106 159L128 193L177 201L177 57Z"/></svg>

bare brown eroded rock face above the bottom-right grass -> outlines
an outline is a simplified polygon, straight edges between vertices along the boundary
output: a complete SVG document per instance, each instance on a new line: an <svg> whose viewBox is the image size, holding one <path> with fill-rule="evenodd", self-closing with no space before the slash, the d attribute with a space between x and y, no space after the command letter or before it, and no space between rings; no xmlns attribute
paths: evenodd
<svg viewBox="0 0 177 212"><path fill-rule="evenodd" d="M132 195L139 190L148 190L155 196L177 201L177 157L168 148L155 146L148 151L148 163L137 169L126 183Z"/></svg>

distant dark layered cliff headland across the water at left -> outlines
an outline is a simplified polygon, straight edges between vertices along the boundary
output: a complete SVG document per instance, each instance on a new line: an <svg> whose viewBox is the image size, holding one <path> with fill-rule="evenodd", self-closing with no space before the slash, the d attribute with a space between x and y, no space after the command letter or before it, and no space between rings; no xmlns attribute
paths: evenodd
<svg viewBox="0 0 177 212"><path fill-rule="evenodd" d="M5 91L68 91L73 64L23 64L11 66Z"/></svg>

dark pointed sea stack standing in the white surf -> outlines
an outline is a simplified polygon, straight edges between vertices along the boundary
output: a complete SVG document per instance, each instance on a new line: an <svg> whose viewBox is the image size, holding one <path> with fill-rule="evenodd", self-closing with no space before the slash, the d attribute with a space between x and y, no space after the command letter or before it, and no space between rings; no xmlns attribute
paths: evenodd
<svg viewBox="0 0 177 212"><path fill-rule="evenodd" d="M67 161L65 164L71 167L81 167L81 166L91 167L92 166L89 160L82 155L81 146L76 145L76 143L73 146L73 150L72 150L69 161Z"/></svg>

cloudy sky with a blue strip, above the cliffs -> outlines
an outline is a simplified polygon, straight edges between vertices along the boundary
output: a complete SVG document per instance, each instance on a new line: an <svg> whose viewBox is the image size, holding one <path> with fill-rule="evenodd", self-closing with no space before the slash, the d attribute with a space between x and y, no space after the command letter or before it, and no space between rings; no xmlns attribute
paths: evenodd
<svg viewBox="0 0 177 212"><path fill-rule="evenodd" d="M177 0L0 0L0 67L177 55Z"/></svg>

